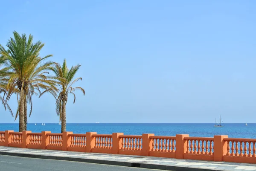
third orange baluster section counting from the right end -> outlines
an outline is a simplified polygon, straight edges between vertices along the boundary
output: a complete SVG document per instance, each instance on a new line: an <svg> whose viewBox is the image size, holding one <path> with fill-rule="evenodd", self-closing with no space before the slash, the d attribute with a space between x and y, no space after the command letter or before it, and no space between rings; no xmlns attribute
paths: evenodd
<svg viewBox="0 0 256 171"><path fill-rule="evenodd" d="M150 136L152 149L150 156L175 158L175 136Z"/></svg>

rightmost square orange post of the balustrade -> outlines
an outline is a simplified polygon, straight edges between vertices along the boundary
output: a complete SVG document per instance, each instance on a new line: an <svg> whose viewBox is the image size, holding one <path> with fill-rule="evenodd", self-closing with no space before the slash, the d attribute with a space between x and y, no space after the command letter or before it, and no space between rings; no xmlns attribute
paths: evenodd
<svg viewBox="0 0 256 171"><path fill-rule="evenodd" d="M223 156L227 154L227 141L224 142L227 135L215 135L213 139L213 159L215 162L222 162Z"/></svg>

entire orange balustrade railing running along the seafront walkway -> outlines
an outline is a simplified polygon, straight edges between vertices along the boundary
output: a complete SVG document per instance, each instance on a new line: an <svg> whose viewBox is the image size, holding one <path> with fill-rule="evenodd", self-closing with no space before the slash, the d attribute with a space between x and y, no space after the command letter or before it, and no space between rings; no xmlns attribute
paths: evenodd
<svg viewBox="0 0 256 171"><path fill-rule="evenodd" d="M154 136L144 133L136 136L6 130L0 131L0 146L256 164L256 139L228 138L226 135L208 138L187 134Z"/></svg>

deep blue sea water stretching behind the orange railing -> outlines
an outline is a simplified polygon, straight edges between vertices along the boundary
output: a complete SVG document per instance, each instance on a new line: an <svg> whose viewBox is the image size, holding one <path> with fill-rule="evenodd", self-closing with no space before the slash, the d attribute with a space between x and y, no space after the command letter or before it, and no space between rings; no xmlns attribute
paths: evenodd
<svg viewBox="0 0 256 171"><path fill-rule="evenodd" d="M175 136L189 134L189 136L213 137L214 135L228 135L230 138L256 139L256 124L243 123L225 124L222 128L214 128L213 123L67 123L67 131L73 133L97 132L98 134L124 133L125 135L142 135L154 133L159 136ZM0 130L18 131L18 124L1 123ZM27 130L32 132L52 131L60 133L61 125L54 123L29 123Z"/></svg>

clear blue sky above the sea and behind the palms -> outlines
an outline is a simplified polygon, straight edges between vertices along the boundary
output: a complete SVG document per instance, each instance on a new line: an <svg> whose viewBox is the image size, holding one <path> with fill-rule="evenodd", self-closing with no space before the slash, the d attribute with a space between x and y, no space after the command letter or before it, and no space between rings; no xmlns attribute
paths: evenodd
<svg viewBox="0 0 256 171"><path fill-rule="evenodd" d="M254 0L5 0L0 43L34 35L52 61L80 63L86 95L67 122L256 122ZM71 96L69 98L72 98ZM9 101L14 112L17 100ZM29 122L58 122L33 97ZM0 122L14 122L0 106ZM16 121L17 122L17 121Z"/></svg>

